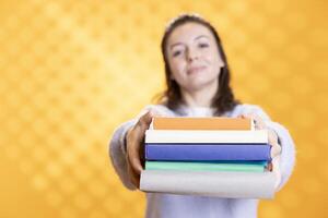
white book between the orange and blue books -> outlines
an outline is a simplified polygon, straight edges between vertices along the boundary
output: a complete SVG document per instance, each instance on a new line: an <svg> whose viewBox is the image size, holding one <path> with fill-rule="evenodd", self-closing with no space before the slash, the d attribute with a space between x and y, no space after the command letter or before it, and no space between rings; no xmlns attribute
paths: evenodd
<svg viewBox="0 0 328 218"><path fill-rule="evenodd" d="M267 144L268 131L147 130L145 143L249 143Z"/></svg>

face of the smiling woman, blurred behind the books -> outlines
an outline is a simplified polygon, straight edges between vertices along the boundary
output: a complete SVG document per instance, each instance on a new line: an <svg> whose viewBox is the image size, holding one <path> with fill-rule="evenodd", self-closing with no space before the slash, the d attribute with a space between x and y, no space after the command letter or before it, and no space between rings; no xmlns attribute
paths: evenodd
<svg viewBox="0 0 328 218"><path fill-rule="evenodd" d="M208 27L195 22L176 27L168 37L166 55L172 78L183 89L218 87L220 68L224 63Z"/></svg>

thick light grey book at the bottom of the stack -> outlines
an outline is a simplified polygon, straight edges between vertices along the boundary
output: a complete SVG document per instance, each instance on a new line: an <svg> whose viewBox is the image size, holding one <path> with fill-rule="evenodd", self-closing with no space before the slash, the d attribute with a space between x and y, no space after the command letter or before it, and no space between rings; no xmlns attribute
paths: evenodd
<svg viewBox="0 0 328 218"><path fill-rule="evenodd" d="M272 198L273 172L143 170L140 190L227 198Z"/></svg>

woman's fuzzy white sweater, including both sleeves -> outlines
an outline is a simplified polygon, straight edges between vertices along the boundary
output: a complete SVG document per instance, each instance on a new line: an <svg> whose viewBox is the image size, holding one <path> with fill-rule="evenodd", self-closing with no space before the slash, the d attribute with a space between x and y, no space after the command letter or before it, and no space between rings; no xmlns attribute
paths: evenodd
<svg viewBox="0 0 328 218"><path fill-rule="evenodd" d="M176 111L172 111L162 105L151 105L140 113L143 114L148 110L167 117L212 117L213 110L210 108L187 108L180 107ZM294 162L295 148L294 143L288 132L279 123L272 122L263 110L254 105L238 105L232 111L223 114L223 117L237 117L239 114L255 113L259 116L267 126L273 129L282 146L280 158L281 183L280 190L289 180ZM139 117L140 117L139 116ZM138 118L139 118L138 117ZM125 158L125 136L127 131L138 121L137 119L122 123L113 135L109 143L109 156L112 164L119 175L122 184L129 190L136 187L129 181L127 174L127 162ZM147 218L254 218L257 217L258 199L243 198L219 198L219 197L200 197L189 195L172 195L172 194L147 194Z"/></svg>

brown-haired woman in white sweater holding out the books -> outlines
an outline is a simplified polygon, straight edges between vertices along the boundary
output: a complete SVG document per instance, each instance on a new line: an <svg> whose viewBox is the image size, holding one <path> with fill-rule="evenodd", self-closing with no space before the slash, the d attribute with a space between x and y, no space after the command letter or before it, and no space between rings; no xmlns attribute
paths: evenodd
<svg viewBox="0 0 328 218"><path fill-rule="evenodd" d="M126 187L139 187L143 138L152 117L251 117L256 129L268 129L277 190L294 165L289 132L258 106L239 104L230 87L230 71L215 29L197 15L184 14L162 39L166 85L161 104L148 106L139 119L121 124L110 141L110 158ZM218 198L148 193L147 217L256 217L258 199Z"/></svg>

